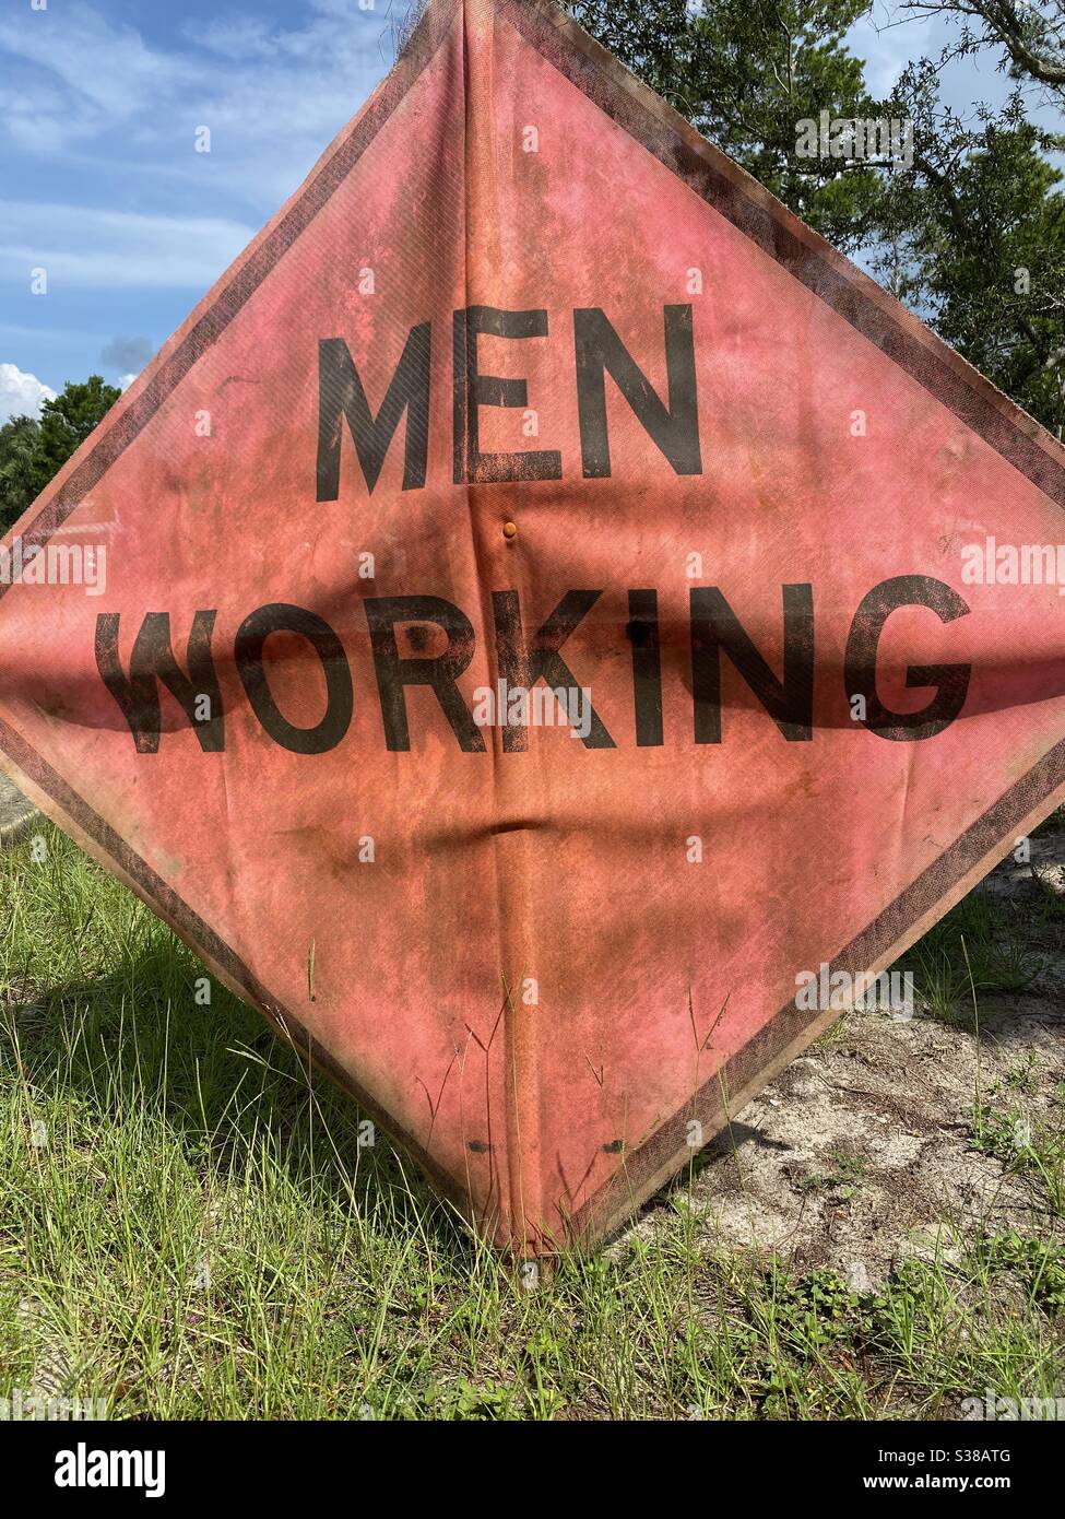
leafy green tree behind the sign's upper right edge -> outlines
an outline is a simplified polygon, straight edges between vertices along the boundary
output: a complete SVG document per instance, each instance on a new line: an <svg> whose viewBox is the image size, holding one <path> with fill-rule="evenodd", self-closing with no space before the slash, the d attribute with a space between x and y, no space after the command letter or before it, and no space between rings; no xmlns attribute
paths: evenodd
<svg viewBox="0 0 1065 1519"><path fill-rule="evenodd" d="M986 35L963 33L951 55L1006 47L1036 26L1038 12L1021 23L998 0L974 5L943 6L988 21ZM1019 88L1000 112L978 106L972 125L940 102L943 55L912 64L892 100L874 102L846 46L866 0L573 0L570 9L810 226L863 252L899 299L1062 436L1065 201L1045 155L1065 138L1025 120ZM1044 12L1059 15L1060 0ZM1039 43L1051 56L1060 26L1054 32L1045 15ZM1015 77L1038 77L1016 47L1009 58ZM909 118L913 164L799 158L799 122L822 111Z"/></svg>

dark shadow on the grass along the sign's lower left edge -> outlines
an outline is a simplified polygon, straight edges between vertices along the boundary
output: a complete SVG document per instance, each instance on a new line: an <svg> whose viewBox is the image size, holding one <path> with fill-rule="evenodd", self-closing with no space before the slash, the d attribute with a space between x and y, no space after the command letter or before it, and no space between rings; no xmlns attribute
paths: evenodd
<svg viewBox="0 0 1065 1519"><path fill-rule="evenodd" d="M32 960L0 972L3 1065L15 1056L38 1100L73 1103L87 1133L147 1115L213 1180L240 1182L269 1153L308 1205L387 1218L453 1258L476 1252L415 1162L346 1094L164 924L144 913L138 928L135 951L117 965L111 955L114 969L99 975L47 986Z"/></svg>

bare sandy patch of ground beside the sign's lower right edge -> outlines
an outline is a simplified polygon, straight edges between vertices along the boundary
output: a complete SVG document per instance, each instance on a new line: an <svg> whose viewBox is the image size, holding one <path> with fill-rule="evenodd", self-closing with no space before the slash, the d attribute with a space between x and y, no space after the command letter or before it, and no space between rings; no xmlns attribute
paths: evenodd
<svg viewBox="0 0 1065 1519"><path fill-rule="evenodd" d="M1022 931L1062 873L1065 834L1032 849L1035 872L1010 858L984 887ZM953 1255L960 1236L1050 1232L1024 1147L1062 1126L1062 924L1041 930L1029 989L978 998L978 1034L971 996L957 1019L919 1001L912 1021L851 1013L792 1062L700 1157L690 1197L711 1238L831 1267L861 1291L907 1255ZM672 1188L687 1191L687 1179Z"/></svg>

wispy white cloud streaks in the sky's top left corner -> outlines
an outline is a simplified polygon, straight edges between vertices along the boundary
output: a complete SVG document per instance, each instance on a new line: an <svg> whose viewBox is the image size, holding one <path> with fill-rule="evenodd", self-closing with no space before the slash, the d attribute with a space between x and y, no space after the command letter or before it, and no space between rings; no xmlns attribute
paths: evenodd
<svg viewBox="0 0 1065 1519"><path fill-rule="evenodd" d="M0 140L23 153L76 149L152 161L173 184L239 190L275 208L392 62L406 0L310 0L292 20L188 21L178 46L147 41L88 5L0 18ZM210 155L193 152L210 126ZM176 185L175 185L176 187Z"/></svg>

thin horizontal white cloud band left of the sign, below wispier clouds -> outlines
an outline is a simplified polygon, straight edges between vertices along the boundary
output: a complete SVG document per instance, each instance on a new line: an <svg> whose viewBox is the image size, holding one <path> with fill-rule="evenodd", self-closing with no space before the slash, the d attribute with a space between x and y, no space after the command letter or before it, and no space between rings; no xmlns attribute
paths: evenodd
<svg viewBox="0 0 1065 1519"><path fill-rule="evenodd" d="M30 270L44 269L49 290L204 289L252 235L223 217L0 201L0 279L29 290Z"/></svg>

